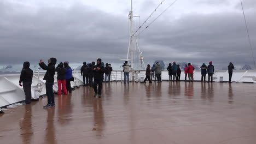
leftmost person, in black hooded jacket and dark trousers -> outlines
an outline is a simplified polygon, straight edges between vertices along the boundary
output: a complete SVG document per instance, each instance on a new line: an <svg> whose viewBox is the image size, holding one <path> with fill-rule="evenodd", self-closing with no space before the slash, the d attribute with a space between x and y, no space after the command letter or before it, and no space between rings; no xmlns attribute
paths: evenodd
<svg viewBox="0 0 256 144"><path fill-rule="evenodd" d="M20 74L20 86L21 82L23 83L23 90L26 95L25 103L30 104L31 101L31 85L32 85L32 78L33 78L33 70L30 69L30 62L24 62L23 68Z"/></svg>

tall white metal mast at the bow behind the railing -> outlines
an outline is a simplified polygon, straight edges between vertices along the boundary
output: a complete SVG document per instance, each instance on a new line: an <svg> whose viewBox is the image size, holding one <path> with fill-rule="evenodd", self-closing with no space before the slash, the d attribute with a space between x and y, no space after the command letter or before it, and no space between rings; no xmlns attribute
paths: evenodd
<svg viewBox="0 0 256 144"><path fill-rule="evenodd" d="M130 59L130 64L131 64L131 70L138 70L138 69L144 69L146 70L144 61L143 61L143 56L141 50L139 50L139 46L137 44L137 37L134 34L134 26L135 23L133 21L133 17L138 17L138 16L133 16L132 13L132 0L131 0L131 11L129 13L129 20L130 20L130 35L129 35L129 46L128 46L128 51L127 51L127 61ZM140 62L141 61L141 62Z"/></svg>

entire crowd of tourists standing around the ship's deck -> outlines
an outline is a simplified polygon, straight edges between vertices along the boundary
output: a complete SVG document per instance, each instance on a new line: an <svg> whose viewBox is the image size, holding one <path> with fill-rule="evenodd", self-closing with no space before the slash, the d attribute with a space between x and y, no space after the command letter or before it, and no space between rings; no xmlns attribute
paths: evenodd
<svg viewBox="0 0 256 144"><path fill-rule="evenodd" d="M71 81L74 80L72 76L72 69L69 67L69 62L66 61L64 63L60 62L57 67L55 68L55 64L57 62L56 58L49 58L48 59L48 65L44 63L42 59L39 61L39 66L46 70L46 73L44 75L43 80L45 80L45 89L46 89L46 95L48 99L48 103L43 106L43 108L50 108L55 107L55 101L54 101L54 93L53 93L53 85L54 85L54 75L55 71L57 71L57 83L58 83L58 95L68 94L72 93L71 89ZM124 65L124 83L129 83L129 73L130 73L130 65L127 61L125 61ZM189 78L189 81L194 81L194 67L190 63L188 65L185 65L184 68L184 74L185 74L185 81L187 81L187 75ZM229 82L231 82L232 78L232 69L234 69L234 65L232 63L228 66L229 69ZM83 82L84 86L89 86L89 88L94 88L94 97L101 98L101 91L102 91L102 82L104 80L104 74L105 74L105 81L110 81L110 76L112 72L111 64L106 63L106 67L104 67L104 63L102 63L101 58L97 59L97 62L91 62L91 63L83 63L81 70L81 75L83 76ZM150 69L150 65L147 65L146 69L146 79L144 79L144 83L146 83L147 80L149 80L150 83L152 81L150 80L150 73L152 71L155 71L156 77L158 79L158 82L161 82L161 70L162 67L160 63L156 63L152 69ZM173 75L173 81L180 81L181 77L181 68L180 65L176 64L176 62L170 63L168 68L168 75L169 80L172 80ZM212 77L214 73L214 66L212 65L212 62L209 63L208 66L206 66L205 63L201 66L201 81L206 81L206 74L208 74L208 82L213 82ZM21 70L20 74L20 80L19 85L24 88L24 93L26 95L25 103L30 104L31 102L31 85L32 85L32 78L33 78L33 70L30 69L30 62L24 62L23 68ZM22 84L21 84L22 82Z"/></svg>

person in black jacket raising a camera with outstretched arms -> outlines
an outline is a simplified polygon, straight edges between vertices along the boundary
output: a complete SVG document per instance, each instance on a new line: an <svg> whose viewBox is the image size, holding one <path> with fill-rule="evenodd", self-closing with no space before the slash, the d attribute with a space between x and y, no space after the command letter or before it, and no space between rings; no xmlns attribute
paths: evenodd
<svg viewBox="0 0 256 144"><path fill-rule="evenodd" d="M48 59L48 65L45 65L44 61L42 59L40 59L40 61L39 61L39 66L42 69L46 70L46 73L44 75L44 80L46 80L45 88L46 88L46 95L47 95L48 103L43 108L55 107L53 85L54 85L56 62L57 62L56 58Z"/></svg>

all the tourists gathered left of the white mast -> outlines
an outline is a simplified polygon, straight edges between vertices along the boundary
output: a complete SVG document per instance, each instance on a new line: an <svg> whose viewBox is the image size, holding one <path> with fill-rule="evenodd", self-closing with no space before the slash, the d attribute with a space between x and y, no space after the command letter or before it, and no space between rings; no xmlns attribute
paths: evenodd
<svg viewBox="0 0 256 144"><path fill-rule="evenodd" d="M72 76L72 69L69 67L69 62L66 61L64 63L60 62L57 67L55 68L55 64L57 63L56 58L49 58L48 64L46 65L42 59L39 61L39 66L46 70L43 80L45 80L45 89L48 103L43 106L43 108L50 108L55 107L54 101L54 92L53 92L53 85L54 85L54 75L57 72L57 83L58 83L58 91L57 94L61 95L72 93L71 89L71 81L74 80ZM84 85L89 85L90 87L94 87L94 97L98 95L98 98L101 98L101 89L102 89L102 81L104 73L107 75L105 76L106 81L110 81L110 73L112 71L112 67L109 67L109 64L106 64L106 67L102 65L101 58L97 59L97 63L92 62L86 65L84 62L83 67L81 68L81 75L84 78ZM86 69L85 69L86 67ZM88 78L86 78L88 77ZM30 62L24 62L23 68L20 74L19 85L24 88L24 93L26 95L25 104L31 103L31 85L32 85L32 78L33 78L33 70L30 69ZM86 79L86 84L85 84ZM92 79L94 81L92 82ZM21 84L22 82L22 84Z"/></svg>

